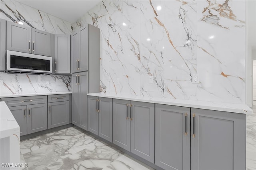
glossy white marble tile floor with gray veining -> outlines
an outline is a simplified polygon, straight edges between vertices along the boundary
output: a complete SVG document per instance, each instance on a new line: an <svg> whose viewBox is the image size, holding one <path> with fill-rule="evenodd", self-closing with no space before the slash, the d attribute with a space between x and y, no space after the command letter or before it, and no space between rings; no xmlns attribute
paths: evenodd
<svg viewBox="0 0 256 170"><path fill-rule="evenodd" d="M256 170L256 101L247 115L246 170ZM20 142L29 170L152 170L120 150L69 127Z"/></svg>

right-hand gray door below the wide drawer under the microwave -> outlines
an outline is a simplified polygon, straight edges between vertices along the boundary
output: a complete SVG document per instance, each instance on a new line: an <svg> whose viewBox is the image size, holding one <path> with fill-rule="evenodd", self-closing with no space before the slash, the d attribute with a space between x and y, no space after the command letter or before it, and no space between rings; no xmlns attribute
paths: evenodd
<svg viewBox="0 0 256 170"><path fill-rule="evenodd" d="M28 134L47 129L47 104L27 106Z"/></svg>

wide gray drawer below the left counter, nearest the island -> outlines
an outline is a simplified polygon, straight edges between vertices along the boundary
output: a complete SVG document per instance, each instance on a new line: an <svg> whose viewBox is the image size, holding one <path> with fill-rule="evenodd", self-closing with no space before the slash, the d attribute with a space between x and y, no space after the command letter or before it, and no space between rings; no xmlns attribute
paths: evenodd
<svg viewBox="0 0 256 170"><path fill-rule="evenodd" d="M23 106L28 104L42 104L47 103L47 96L27 96L16 98L2 98L8 107Z"/></svg>

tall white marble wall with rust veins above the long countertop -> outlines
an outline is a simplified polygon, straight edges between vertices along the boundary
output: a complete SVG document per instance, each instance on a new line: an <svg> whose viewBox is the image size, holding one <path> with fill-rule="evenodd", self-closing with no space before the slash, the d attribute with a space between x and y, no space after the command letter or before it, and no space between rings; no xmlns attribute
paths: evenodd
<svg viewBox="0 0 256 170"><path fill-rule="evenodd" d="M103 0L72 27L100 28L102 92L245 104L245 21L244 0Z"/></svg>

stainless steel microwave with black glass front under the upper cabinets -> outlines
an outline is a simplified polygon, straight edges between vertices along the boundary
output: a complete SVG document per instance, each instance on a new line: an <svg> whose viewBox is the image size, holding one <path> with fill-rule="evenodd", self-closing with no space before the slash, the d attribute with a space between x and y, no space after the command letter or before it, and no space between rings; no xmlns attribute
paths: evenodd
<svg viewBox="0 0 256 170"><path fill-rule="evenodd" d="M51 74L52 57L7 50L6 72Z"/></svg>

